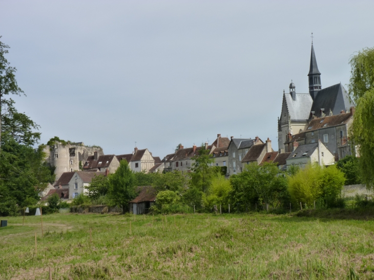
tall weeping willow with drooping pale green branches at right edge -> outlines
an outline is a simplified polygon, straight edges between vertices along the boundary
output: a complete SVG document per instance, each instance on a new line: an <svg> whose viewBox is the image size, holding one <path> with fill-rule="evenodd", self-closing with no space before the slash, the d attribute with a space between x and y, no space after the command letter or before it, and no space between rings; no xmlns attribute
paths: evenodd
<svg viewBox="0 0 374 280"><path fill-rule="evenodd" d="M366 48L349 61L351 77L348 92L356 102L351 139L360 155L363 183L374 185L374 48Z"/></svg>

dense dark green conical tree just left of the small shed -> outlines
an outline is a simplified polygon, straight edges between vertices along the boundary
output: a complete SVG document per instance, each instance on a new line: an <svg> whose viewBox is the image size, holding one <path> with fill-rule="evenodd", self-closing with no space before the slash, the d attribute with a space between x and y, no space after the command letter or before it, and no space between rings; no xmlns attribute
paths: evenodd
<svg viewBox="0 0 374 280"><path fill-rule="evenodd" d="M109 177L109 195L114 203L122 207L123 213L129 202L136 197L135 176L129 168L127 160L121 160L119 167L114 174Z"/></svg>

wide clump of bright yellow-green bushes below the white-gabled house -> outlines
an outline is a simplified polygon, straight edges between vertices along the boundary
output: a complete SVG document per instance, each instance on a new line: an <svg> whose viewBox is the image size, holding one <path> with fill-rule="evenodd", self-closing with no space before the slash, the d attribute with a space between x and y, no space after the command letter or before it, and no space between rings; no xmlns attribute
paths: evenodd
<svg viewBox="0 0 374 280"><path fill-rule="evenodd" d="M322 199L326 207L338 207L344 182L344 174L335 165L327 168L307 165L288 178L288 191L294 205L300 202L313 205L314 201Z"/></svg>

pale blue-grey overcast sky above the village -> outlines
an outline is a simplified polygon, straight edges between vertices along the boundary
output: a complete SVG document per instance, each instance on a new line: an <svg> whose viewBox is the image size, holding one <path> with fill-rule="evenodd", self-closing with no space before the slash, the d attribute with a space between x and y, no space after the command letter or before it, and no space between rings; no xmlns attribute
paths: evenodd
<svg viewBox="0 0 374 280"><path fill-rule="evenodd" d="M374 1L0 0L18 111L54 136L163 158L223 137L272 140L283 90L308 92L311 32L322 88L374 47ZM347 88L345 86L345 88Z"/></svg>

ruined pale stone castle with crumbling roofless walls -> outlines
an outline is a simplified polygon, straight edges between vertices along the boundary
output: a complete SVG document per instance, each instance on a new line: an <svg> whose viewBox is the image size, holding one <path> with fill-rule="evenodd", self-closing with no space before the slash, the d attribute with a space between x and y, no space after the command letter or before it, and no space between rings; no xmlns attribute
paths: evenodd
<svg viewBox="0 0 374 280"><path fill-rule="evenodd" d="M54 145L44 145L43 152L46 154L47 165L56 167L54 174L56 181L64 172L72 172L80 170L89 156L93 156L94 152L103 155L102 149L97 146L85 146L83 142L77 143L60 143L54 142Z"/></svg>

